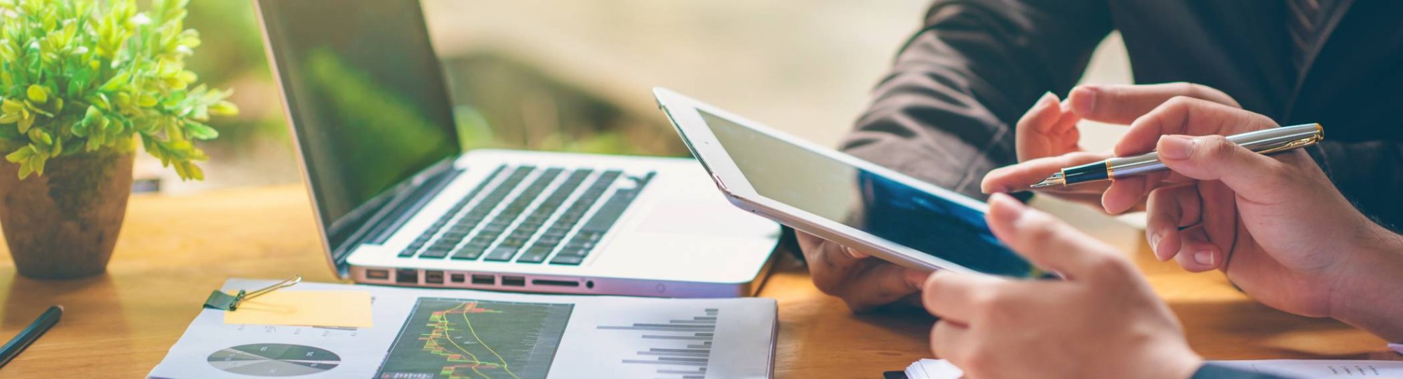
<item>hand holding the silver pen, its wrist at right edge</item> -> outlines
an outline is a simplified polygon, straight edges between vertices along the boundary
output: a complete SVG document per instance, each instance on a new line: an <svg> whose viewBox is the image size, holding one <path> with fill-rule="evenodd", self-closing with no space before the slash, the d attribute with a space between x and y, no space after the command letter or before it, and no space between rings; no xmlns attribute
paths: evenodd
<svg viewBox="0 0 1403 379"><path fill-rule="evenodd" d="M1222 136L1267 128L1277 124L1197 100L1170 101L1138 119L1117 153L1159 150L1173 175L1194 180L1128 185L1149 192L1146 237L1160 260L1222 270L1264 305L1348 319L1333 310L1341 298L1358 296L1350 289L1361 277L1389 267L1378 253L1397 236L1355 211L1303 150L1263 156Z"/></svg>

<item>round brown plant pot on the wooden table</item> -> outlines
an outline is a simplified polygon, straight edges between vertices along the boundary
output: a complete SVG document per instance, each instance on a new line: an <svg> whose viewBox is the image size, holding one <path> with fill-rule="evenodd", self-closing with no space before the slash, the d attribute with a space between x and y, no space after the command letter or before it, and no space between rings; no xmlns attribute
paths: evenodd
<svg viewBox="0 0 1403 379"><path fill-rule="evenodd" d="M0 227L20 275L72 279L107 271L132 194L132 152L49 159L20 180L0 160Z"/></svg>

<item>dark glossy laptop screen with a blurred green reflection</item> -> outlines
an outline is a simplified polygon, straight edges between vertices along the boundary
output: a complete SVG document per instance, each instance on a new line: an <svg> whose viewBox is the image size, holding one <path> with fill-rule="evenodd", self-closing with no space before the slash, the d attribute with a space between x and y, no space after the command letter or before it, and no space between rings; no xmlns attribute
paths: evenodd
<svg viewBox="0 0 1403 379"><path fill-rule="evenodd" d="M460 152L417 0L258 0L331 251Z"/></svg>

